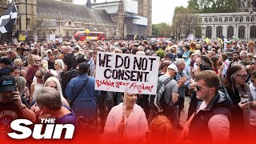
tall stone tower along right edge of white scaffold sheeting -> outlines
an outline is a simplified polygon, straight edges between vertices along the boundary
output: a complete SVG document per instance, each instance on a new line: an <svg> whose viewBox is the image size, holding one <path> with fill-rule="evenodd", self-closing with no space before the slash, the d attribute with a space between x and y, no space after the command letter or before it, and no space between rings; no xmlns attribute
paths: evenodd
<svg viewBox="0 0 256 144"><path fill-rule="evenodd" d="M138 15L147 17L147 35L152 35L152 0L135 0L138 2Z"/></svg>

